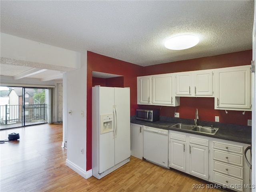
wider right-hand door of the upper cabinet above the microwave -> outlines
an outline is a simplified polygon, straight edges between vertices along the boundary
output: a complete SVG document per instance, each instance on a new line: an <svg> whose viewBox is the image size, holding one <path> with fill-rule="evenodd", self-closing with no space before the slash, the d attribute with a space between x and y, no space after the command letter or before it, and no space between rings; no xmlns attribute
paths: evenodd
<svg viewBox="0 0 256 192"><path fill-rule="evenodd" d="M152 103L172 105L172 76L170 74L152 77Z"/></svg>

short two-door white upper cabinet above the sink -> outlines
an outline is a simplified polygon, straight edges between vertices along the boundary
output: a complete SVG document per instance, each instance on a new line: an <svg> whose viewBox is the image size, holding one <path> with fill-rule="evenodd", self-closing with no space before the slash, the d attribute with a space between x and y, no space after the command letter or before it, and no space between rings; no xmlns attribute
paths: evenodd
<svg viewBox="0 0 256 192"><path fill-rule="evenodd" d="M176 73L176 95L213 97L213 70Z"/></svg>

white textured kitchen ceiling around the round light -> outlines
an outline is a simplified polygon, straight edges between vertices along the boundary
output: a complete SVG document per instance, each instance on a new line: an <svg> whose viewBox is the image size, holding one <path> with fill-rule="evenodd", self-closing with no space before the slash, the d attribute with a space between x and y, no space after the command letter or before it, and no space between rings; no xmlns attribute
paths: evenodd
<svg viewBox="0 0 256 192"><path fill-rule="evenodd" d="M252 49L254 1L0 1L1 32L148 66ZM168 50L177 34L200 38ZM1 73L2 74L2 73Z"/></svg>

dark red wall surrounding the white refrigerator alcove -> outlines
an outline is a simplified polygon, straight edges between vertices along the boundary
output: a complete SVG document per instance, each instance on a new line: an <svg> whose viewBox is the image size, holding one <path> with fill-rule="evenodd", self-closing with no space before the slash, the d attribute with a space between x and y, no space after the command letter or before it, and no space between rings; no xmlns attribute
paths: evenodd
<svg viewBox="0 0 256 192"><path fill-rule="evenodd" d="M109 78L105 82L93 82L92 71L117 74L123 77ZM130 114L137 108L137 76L143 75L143 67L93 52L87 52L87 130L86 130L86 170L92 168L92 85L106 83L106 86L130 87ZM95 80L95 79L94 79ZM114 81L113 81L114 80ZM116 82L117 80L117 82Z"/></svg>

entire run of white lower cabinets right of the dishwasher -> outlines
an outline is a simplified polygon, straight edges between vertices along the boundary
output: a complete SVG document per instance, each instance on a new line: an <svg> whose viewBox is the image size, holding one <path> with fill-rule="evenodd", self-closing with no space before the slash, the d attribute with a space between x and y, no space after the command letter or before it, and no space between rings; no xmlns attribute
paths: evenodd
<svg viewBox="0 0 256 192"><path fill-rule="evenodd" d="M169 130L169 167L234 191L249 192L249 144Z"/></svg>

